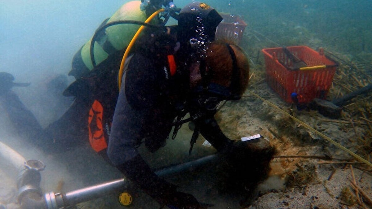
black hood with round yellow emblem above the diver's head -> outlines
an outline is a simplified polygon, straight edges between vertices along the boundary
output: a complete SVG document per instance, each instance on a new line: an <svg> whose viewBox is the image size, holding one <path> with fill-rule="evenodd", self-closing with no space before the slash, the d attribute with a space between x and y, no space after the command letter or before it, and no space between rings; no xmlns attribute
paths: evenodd
<svg viewBox="0 0 372 209"><path fill-rule="evenodd" d="M178 18L178 40L186 44L195 38L213 41L216 28L222 21L221 15L206 3L195 1L183 7Z"/></svg>

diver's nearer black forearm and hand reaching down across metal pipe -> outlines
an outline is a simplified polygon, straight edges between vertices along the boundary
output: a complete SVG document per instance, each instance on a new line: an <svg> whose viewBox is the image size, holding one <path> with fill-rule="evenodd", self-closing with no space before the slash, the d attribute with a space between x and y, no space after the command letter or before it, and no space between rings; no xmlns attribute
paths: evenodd
<svg viewBox="0 0 372 209"><path fill-rule="evenodd" d="M176 186L159 178L140 155L116 167L161 206L167 206L171 209L200 208L195 197L191 194L177 192Z"/></svg>

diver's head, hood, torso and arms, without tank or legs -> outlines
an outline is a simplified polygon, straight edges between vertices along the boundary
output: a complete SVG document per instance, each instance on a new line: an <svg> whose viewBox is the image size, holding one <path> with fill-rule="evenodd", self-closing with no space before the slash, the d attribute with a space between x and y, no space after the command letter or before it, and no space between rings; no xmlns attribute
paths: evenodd
<svg viewBox="0 0 372 209"><path fill-rule="evenodd" d="M120 92L110 130L108 156L129 180L169 208L200 208L191 194L160 179L137 151L144 142L150 152L165 145L172 126L195 125L190 151L199 133L220 152L234 143L214 115L223 100L238 100L248 84L248 61L236 45L214 42L222 17L207 4L184 7L175 28L148 28L147 38L126 60L119 74ZM121 79L121 80L120 80ZM121 82L120 82L121 81ZM189 120L183 120L190 113ZM176 118L176 119L175 119Z"/></svg>

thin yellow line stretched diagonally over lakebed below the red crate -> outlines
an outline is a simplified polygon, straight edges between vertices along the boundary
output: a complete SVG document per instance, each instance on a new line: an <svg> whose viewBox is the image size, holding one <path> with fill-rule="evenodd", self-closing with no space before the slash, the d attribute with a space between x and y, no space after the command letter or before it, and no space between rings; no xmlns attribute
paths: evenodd
<svg viewBox="0 0 372 209"><path fill-rule="evenodd" d="M345 151L345 152L349 153L350 155L352 155L354 158L356 158L360 162L365 163L365 164L369 165L370 167L372 167L372 163L370 163L368 160L360 157L359 155L355 154L354 152L350 151L350 149L347 149L346 147L342 146L341 144L337 143L336 141L333 141L328 136L322 134L321 132L317 131L316 129L314 129L311 126L307 125L306 123L302 122L298 118L290 115L288 112L285 112L284 110L280 109L278 106L274 105L273 103L267 101L266 99L263 99L262 97L260 97L259 95L255 94L255 93L253 93L253 91L251 91L251 90L247 90L247 91L249 91L249 93L253 94L253 96L259 98L260 100L262 100L262 101L266 102L267 104L269 104L270 106L274 107L275 109L278 109L280 112L284 113L285 115L291 117L295 121L301 123L303 126L305 126L306 128L310 129L311 131L314 131L315 133L317 133L318 135L320 135L321 137L323 137L324 139L326 139L328 142L331 142L336 147L338 147L338 148L342 149L343 151Z"/></svg>

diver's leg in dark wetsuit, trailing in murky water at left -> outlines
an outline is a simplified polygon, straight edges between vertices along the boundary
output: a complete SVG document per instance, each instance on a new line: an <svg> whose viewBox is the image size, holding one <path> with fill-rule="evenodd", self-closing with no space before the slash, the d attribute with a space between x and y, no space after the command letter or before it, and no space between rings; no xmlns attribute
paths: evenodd
<svg viewBox="0 0 372 209"><path fill-rule="evenodd" d="M87 138L87 105L75 100L64 115L55 122L42 128L33 113L23 105L19 97L8 91L0 96L9 120L17 134L28 143L41 148L44 152L65 151Z"/></svg>

